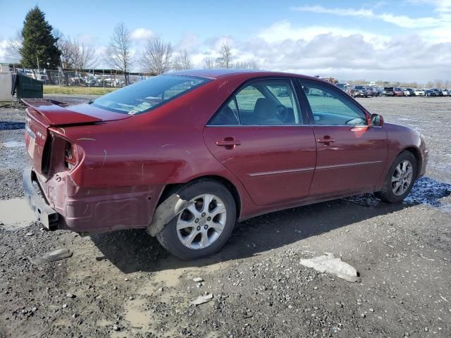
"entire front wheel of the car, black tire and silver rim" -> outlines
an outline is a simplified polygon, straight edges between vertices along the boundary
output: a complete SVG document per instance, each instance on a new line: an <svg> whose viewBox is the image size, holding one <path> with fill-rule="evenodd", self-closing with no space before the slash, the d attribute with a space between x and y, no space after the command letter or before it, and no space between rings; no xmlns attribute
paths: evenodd
<svg viewBox="0 0 451 338"><path fill-rule="evenodd" d="M410 167L407 166L406 173L404 174L402 174L402 170L400 170L400 168L402 168L401 163L404 163L404 165L409 163L410 165ZM408 168L410 168L410 171ZM397 156L397 158L395 158L395 161L393 161L393 164L390 166L387 176L383 182L382 190L380 192L375 192L374 194L378 197L378 199L381 199L386 203L400 203L407 197L408 194L410 194L417 175L418 163L414 154L410 151L403 151ZM396 180L398 177L399 180ZM404 177L406 180L404 180ZM410 180L407 184L407 179L409 177Z"/></svg>

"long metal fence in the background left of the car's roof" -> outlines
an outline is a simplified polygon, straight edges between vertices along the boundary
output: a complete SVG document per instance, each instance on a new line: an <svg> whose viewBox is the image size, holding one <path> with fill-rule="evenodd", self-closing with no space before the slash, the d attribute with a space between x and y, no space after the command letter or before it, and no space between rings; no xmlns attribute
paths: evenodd
<svg viewBox="0 0 451 338"><path fill-rule="evenodd" d="M11 68L12 73L19 73L39 80L44 84L64 87L124 87L150 77L146 74L129 73L124 75L117 70L36 70L27 68ZM127 80L125 79L127 76Z"/></svg>

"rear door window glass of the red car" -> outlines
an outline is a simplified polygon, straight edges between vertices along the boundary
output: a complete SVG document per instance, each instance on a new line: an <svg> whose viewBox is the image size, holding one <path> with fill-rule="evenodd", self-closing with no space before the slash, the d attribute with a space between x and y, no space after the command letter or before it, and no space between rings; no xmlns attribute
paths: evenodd
<svg viewBox="0 0 451 338"><path fill-rule="evenodd" d="M293 125L302 118L290 80L257 80L233 95L210 125Z"/></svg>

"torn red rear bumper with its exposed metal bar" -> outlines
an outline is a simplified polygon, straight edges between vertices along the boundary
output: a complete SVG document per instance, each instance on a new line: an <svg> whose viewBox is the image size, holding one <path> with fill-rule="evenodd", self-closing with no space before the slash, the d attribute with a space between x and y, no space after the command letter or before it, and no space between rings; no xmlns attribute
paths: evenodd
<svg viewBox="0 0 451 338"><path fill-rule="evenodd" d="M28 167L23 187L30 208L47 230L71 230L83 234L145 228L163 186L86 188L68 173L46 178Z"/></svg>

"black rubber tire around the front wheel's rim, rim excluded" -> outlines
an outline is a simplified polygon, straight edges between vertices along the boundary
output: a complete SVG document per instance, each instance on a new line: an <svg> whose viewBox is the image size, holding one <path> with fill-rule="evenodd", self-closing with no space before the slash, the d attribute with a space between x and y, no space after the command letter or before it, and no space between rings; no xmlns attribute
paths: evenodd
<svg viewBox="0 0 451 338"><path fill-rule="evenodd" d="M410 163L412 163L413 170L412 182L410 182L409 187L404 192L404 194L396 195L392 189L392 177L395 173L397 165L399 165L404 160L407 160ZM412 154L410 151L403 151L395 158L395 161L393 161L392 165L390 166L387 176L385 177L385 180L383 182L382 190L380 192L375 192L374 194L378 199L381 199L386 203L400 203L407 197L408 194L410 194L412 187L415 184L417 175L418 175L418 163L416 161L414 154Z"/></svg>

